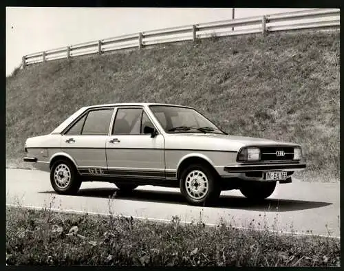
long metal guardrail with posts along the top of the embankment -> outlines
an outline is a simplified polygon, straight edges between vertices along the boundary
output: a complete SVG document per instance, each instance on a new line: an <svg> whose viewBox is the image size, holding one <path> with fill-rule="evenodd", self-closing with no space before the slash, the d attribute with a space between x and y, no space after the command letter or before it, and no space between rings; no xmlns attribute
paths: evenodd
<svg viewBox="0 0 344 271"><path fill-rule="evenodd" d="M328 20L328 18L330 18L330 20ZM322 19L327 20L321 21ZM178 26L175 28L164 28L137 34L115 36L100 41L79 43L44 52L28 54L23 56L22 65L25 67L27 65L55 59L85 56L87 54L103 54L116 50L142 49L145 46L162 43L176 43L180 41L194 42L197 39L207 39L213 36L234 36L254 33L266 35L269 32L286 30L336 28L340 28L339 9L302 10L297 12L269 14L260 17L248 17L243 19Z"/></svg>

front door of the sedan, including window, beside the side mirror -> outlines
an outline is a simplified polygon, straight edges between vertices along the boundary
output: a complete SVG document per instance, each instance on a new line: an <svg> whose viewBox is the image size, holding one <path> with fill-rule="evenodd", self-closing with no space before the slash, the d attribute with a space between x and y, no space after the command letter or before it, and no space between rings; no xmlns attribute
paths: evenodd
<svg viewBox="0 0 344 271"><path fill-rule="evenodd" d="M164 179L164 137L151 138L144 127L154 127L142 107L118 107L106 142L108 173L114 177Z"/></svg>

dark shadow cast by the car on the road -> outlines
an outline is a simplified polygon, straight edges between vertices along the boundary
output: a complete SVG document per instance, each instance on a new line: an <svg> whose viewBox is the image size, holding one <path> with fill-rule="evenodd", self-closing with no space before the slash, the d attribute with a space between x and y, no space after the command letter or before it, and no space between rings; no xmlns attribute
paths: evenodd
<svg viewBox="0 0 344 271"><path fill-rule="evenodd" d="M55 193L45 191L40 193ZM114 195L116 193L116 195ZM175 191L142 191L134 190L129 194L121 193L117 188L84 188L78 191L76 197L99 197L109 199L114 195L114 199L135 200L140 202L156 202L167 204L187 205L186 199L180 192ZM264 212L288 212L292 210L306 210L328 206L330 202L310 202L294 199L265 199L261 202L250 202L245 197L221 195L219 201L213 207L257 210Z"/></svg>

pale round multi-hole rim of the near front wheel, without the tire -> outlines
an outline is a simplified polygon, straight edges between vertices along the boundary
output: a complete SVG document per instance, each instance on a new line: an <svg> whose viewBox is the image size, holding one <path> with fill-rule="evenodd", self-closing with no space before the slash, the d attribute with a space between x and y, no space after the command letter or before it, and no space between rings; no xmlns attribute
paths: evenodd
<svg viewBox="0 0 344 271"><path fill-rule="evenodd" d="M186 176L185 181L186 193L193 199L202 199L208 193L208 178L202 171L191 171Z"/></svg>

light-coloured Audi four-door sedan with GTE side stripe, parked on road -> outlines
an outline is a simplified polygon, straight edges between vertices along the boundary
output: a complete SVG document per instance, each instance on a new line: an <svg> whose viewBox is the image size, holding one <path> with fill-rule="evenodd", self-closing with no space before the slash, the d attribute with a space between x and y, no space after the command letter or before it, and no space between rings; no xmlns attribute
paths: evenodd
<svg viewBox="0 0 344 271"><path fill-rule="evenodd" d="M59 194L89 181L122 193L165 186L198 206L231 189L266 199L306 167L299 144L228 135L192 107L142 102L83 107L50 134L28 138L23 160L50 172Z"/></svg>

